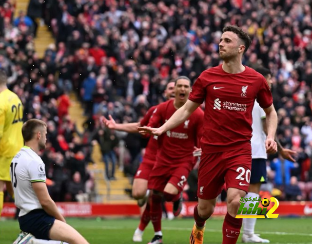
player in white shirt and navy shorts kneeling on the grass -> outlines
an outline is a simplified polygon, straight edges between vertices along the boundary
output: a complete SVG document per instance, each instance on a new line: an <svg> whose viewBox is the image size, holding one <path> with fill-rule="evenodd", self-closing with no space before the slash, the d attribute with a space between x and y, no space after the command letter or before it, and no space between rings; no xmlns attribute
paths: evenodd
<svg viewBox="0 0 312 244"><path fill-rule="evenodd" d="M43 121L28 120L22 127L25 146L11 163L10 175L22 231L14 243L89 244L66 224L48 193L44 163L38 155L39 150L45 149L46 133L47 125Z"/></svg>

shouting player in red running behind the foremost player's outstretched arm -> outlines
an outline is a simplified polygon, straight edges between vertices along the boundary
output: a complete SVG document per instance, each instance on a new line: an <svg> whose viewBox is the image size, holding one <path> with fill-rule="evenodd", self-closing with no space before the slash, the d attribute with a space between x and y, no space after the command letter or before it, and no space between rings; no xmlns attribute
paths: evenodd
<svg viewBox="0 0 312 244"><path fill-rule="evenodd" d="M176 97L157 106L148 126L164 124L177 109L182 107L191 91L190 79L178 79L175 86ZM204 112L198 108L184 123L158 137L156 164L150 173L148 188L153 189L151 220L155 236L149 244L161 244L161 200L174 203L175 216L181 210L181 192L190 171L194 167L193 151L202 135ZM141 127L149 128L149 127ZM141 128L139 128L140 132ZM180 199L180 201L178 201Z"/></svg>

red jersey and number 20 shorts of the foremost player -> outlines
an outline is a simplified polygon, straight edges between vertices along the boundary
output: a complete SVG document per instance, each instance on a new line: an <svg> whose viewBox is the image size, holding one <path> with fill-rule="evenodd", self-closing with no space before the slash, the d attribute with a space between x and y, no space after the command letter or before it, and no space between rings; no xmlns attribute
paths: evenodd
<svg viewBox="0 0 312 244"><path fill-rule="evenodd" d="M196 80L189 100L206 102L204 129L209 131L201 140L198 196L202 199L216 198L224 180L227 187L248 191L254 97L262 108L273 103L265 78L249 67L239 74L227 74L219 65Z"/></svg>

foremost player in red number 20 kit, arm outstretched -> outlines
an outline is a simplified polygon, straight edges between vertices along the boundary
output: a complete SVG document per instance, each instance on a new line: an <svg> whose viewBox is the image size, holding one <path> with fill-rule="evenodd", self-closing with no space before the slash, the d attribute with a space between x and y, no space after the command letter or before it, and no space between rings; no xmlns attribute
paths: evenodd
<svg viewBox="0 0 312 244"><path fill-rule="evenodd" d="M254 101L266 113L267 153L276 153L274 141L277 114L265 78L242 64L242 56L251 44L247 33L227 26L219 43L223 64L205 70L196 80L189 100L160 128L143 128L161 135L185 121L205 101L203 150L198 170L198 205L191 244L202 244L206 220L213 214L224 182L227 186L228 212L222 233L223 244L235 244L242 219L235 219L239 199L248 192L251 175L252 110Z"/></svg>

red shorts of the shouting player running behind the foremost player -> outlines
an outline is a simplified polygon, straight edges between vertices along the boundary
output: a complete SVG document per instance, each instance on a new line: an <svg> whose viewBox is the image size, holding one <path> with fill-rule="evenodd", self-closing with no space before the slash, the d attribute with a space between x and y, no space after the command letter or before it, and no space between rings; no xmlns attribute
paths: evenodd
<svg viewBox="0 0 312 244"><path fill-rule="evenodd" d="M148 188L163 192L167 183L171 183L179 191L182 191L192 168L193 163L175 164L173 162L172 166L168 166L161 164L158 159L150 174Z"/></svg>

